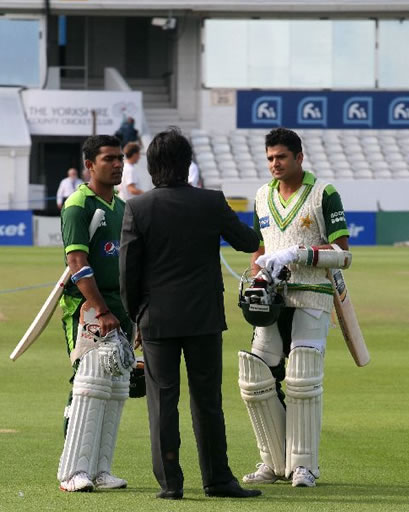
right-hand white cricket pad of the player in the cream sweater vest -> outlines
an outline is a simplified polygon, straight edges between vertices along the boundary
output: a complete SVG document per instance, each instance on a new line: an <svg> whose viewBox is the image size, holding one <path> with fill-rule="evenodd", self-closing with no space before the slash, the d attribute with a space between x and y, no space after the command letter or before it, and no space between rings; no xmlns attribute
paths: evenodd
<svg viewBox="0 0 409 512"><path fill-rule="evenodd" d="M298 466L319 476L323 367L323 355L315 348L296 347L290 352L285 378L287 478Z"/></svg>

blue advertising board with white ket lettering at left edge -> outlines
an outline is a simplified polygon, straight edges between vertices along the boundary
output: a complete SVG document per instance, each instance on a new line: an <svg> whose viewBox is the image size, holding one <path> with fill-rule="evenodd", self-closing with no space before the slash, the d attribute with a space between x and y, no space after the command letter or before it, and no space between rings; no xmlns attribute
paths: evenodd
<svg viewBox="0 0 409 512"><path fill-rule="evenodd" d="M0 211L0 245L33 245L33 212Z"/></svg>

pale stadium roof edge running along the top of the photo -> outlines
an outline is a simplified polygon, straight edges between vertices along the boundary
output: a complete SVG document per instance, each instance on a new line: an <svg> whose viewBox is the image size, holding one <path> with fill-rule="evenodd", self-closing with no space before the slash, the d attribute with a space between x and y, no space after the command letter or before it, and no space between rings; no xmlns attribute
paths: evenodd
<svg viewBox="0 0 409 512"><path fill-rule="evenodd" d="M190 11L197 14L409 14L408 0L49 0L52 12ZM2 0L0 12L43 11L45 0ZM176 12L175 12L176 14Z"/></svg>

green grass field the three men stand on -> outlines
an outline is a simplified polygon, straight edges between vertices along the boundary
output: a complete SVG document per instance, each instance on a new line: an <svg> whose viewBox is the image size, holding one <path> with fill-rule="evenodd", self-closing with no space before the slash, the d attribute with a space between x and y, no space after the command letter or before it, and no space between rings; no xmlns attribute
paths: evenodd
<svg viewBox="0 0 409 512"><path fill-rule="evenodd" d="M223 249L238 273L248 257ZM67 494L58 490L62 414L70 364L56 312L41 338L16 362L9 354L48 295L48 288L9 291L55 281L62 251L0 249L0 510L409 511L409 250L354 248L346 279L372 361L355 366L340 330L328 339L321 478L316 488L288 483L262 486L254 500L205 498L191 429L186 379L180 404L185 499L156 500L146 402L129 400L120 427L113 472L126 490ZM249 349L251 328L237 307L235 278L225 273L229 330L224 336L223 399L229 460L241 478L258 451L237 386L237 351ZM203 354L206 364L206 354Z"/></svg>

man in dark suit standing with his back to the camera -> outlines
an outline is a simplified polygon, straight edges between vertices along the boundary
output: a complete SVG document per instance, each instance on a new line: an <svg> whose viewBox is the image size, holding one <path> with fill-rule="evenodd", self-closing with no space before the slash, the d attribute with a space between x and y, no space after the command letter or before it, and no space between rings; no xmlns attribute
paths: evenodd
<svg viewBox="0 0 409 512"><path fill-rule="evenodd" d="M240 487L227 460L219 245L223 236L250 253L259 241L222 192L188 184L192 148L177 129L156 135L147 158L155 188L126 204L120 281L123 303L142 336L157 497L183 497L177 409L182 350L205 494L258 496L260 491Z"/></svg>

